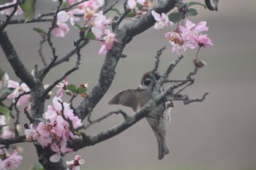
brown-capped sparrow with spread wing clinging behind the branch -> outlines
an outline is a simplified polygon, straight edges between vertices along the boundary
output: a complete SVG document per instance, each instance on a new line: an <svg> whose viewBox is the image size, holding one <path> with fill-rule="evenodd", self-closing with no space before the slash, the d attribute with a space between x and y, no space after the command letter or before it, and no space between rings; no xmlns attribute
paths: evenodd
<svg viewBox="0 0 256 170"><path fill-rule="evenodd" d="M131 107L134 112L140 110L148 101L153 98L155 81L151 78L151 72L146 72L140 81L137 89L127 89L116 94L108 104L121 104L125 107ZM154 79L159 80L160 74L154 72ZM163 90L161 90L163 91ZM161 160L169 153L165 142L167 125L170 123L170 110L174 107L173 101L166 101L159 104L146 116L146 120L157 136L158 159Z"/></svg>

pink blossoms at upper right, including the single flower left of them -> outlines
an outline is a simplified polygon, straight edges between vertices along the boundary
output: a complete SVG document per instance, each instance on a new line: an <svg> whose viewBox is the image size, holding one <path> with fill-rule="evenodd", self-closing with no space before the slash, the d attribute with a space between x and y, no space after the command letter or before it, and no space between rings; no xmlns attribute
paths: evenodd
<svg viewBox="0 0 256 170"><path fill-rule="evenodd" d="M169 18L165 13L159 15L157 12L152 10L151 14L154 16L154 19L157 20L154 28L162 29L165 26L173 26L173 23L169 21ZM211 47L213 45L207 34L202 34L203 31L208 31L206 21L195 24L192 23L191 20L187 19L185 26L179 26L179 28L167 32L165 37L167 37L170 45L173 46L172 52L183 55L187 50L187 47L191 49L199 47L198 50L200 50L200 47Z"/></svg>

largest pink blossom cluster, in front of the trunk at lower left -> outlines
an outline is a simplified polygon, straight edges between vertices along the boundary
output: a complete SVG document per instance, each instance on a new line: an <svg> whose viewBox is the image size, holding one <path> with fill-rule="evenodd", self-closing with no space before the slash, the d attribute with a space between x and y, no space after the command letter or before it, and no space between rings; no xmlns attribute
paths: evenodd
<svg viewBox="0 0 256 170"><path fill-rule="evenodd" d="M45 122L40 122L37 128L31 124L25 130L26 139L29 142L37 141L42 147L50 145L51 150L56 152L50 157L50 161L59 162L61 154L72 152L67 147L67 140L78 139L73 130L83 124L74 115L70 105L61 101L61 98L53 97L53 106L48 105L48 110L44 113Z"/></svg>

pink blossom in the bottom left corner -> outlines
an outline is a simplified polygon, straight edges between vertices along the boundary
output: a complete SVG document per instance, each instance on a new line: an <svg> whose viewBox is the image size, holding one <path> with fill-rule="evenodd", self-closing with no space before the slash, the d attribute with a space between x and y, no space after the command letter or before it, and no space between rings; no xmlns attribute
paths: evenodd
<svg viewBox="0 0 256 170"><path fill-rule="evenodd" d="M0 163L0 166L4 165L3 169L18 169L22 161L22 156L18 155L16 150L13 150L12 155Z"/></svg>

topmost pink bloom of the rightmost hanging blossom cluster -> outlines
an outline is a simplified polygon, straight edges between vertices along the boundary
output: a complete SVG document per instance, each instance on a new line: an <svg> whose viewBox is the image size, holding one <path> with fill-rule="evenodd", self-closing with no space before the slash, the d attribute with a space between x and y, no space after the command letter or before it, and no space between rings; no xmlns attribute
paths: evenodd
<svg viewBox="0 0 256 170"><path fill-rule="evenodd" d="M202 31L208 31L206 21L200 23L192 23L190 20L186 20L186 27L180 26L181 32L184 35L184 39L190 39L192 36L198 36Z"/></svg>

